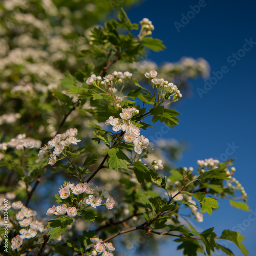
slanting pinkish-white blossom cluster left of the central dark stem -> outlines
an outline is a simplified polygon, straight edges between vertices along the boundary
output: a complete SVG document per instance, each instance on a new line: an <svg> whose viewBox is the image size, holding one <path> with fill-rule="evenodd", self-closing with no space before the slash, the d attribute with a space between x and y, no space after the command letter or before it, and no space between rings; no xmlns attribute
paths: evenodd
<svg viewBox="0 0 256 256"><path fill-rule="evenodd" d="M53 166L57 161L56 156L60 155L66 147L71 144L77 145L77 142L81 141L75 137L76 135L76 128L71 128L63 134L57 134L52 140L48 141L47 145L40 148L38 153L39 160L44 160L50 153L48 164ZM54 148L53 152L51 152L52 148Z"/></svg>

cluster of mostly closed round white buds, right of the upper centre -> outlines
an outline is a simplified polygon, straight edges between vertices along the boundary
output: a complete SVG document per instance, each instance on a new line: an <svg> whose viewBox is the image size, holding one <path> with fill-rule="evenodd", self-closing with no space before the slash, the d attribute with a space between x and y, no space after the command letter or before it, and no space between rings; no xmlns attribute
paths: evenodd
<svg viewBox="0 0 256 256"><path fill-rule="evenodd" d="M180 90L178 90L178 87L172 82L168 82L163 78L157 78L157 72L155 70L146 72L144 75L146 78L151 79L153 86L155 84L159 94L161 94L165 100L168 100L171 96L173 96L173 101L177 101L179 98L182 97L182 94L180 93ZM165 94L163 93L164 88L169 89L168 92L165 92Z"/></svg>

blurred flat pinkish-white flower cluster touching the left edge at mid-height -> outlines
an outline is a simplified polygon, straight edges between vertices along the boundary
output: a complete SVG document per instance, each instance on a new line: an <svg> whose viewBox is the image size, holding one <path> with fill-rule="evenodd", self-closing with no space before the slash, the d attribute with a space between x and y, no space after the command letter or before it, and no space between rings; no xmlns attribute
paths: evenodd
<svg viewBox="0 0 256 256"><path fill-rule="evenodd" d="M0 150L6 151L8 146L16 148L16 150L23 150L24 147L39 148L41 146L41 141L26 137L26 134L19 134L9 142L0 143Z"/></svg>

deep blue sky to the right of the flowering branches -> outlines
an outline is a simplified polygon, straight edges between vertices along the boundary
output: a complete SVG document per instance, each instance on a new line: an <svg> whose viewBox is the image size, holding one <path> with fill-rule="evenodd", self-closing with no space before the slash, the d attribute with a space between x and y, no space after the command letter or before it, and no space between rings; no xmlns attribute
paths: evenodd
<svg viewBox="0 0 256 256"><path fill-rule="evenodd" d="M190 6L199 4L202 6L200 11L193 15ZM190 81L193 96L176 106L182 114L180 124L167 133L165 138L185 139L189 144L189 150L178 162L180 166L196 167L198 159L224 157L227 147L230 147L228 143L235 146L230 157L237 158L234 162L237 169L235 177L245 187L251 213L256 211L255 7L253 1L147 0L127 11L134 23L138 23L143 17L152 20L155 26L153 36L163 40L167 47L163 52L150 53L148 59L161 63L178 61L182 56L203 57L211 66L211 77L214 77L213 71L227 67L228 72L217 79L217 83L201 94L201 97L198 88L204 90L205 81ZM189 11L188 16L194 17L184 25L181 22L182 14L187 16ZM179 32L175 22L182 24ZM246 51L243 51L241 49L246 40L251 41L250 47L247 45ZM215 83L215 80L212 78L211 81ZM201 230L215 226L215 231L220 236L222 230L241 224L241 233L245 235L244 244L253 255L256 249L256 218L249 212L232 208L228 201L220 201L220 205L221 209L215 211L212 217L204 214L204 222L196 225ZM170 249L172 255L182 255L182 252L176 252L177 245L171 243L163 246L161 255L166 255ZM236 256L243 255L236 246L228 244L228 247Z"/></svg>

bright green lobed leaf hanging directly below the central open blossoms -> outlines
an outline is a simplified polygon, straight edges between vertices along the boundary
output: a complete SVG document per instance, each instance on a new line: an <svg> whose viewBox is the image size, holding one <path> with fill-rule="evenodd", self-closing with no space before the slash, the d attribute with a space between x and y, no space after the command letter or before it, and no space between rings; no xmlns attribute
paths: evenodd
<svg viewBox="0 0 256 256"><path fill-rule="evenodd" d="M126 162L130 162L130 159L121 150L119 150L119 148L111 148L108 150L108 154L110 156L108 161L110 169L115 169L117 172L119 166L121 166L127 170Z"/></svg>

